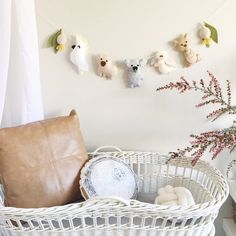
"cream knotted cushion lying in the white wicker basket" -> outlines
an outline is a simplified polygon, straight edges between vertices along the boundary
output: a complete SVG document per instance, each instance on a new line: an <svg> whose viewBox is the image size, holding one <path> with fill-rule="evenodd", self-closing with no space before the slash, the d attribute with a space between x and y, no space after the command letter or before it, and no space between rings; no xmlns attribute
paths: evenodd
<svg viewBox="0 0 236 236"><path fill-rule="evenodd" d="M155 204L168 206L191 206L195 204L192 193L185 187L172 187L170 185L158 190L159 196Z"/></svg>

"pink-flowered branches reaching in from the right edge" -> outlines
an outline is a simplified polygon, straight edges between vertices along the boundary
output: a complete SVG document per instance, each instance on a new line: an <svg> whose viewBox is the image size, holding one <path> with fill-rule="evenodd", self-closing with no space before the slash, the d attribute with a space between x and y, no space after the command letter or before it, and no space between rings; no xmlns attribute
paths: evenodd
<svg viewBox="0 0 236 236"><path fill-rule="evenodd" d="M203 93L201 102L196 107L203 107L209 104L217 104L220 107L213 110L207 115L207 118L212 121L218 119L224 114L235 115L236 106L231 105L231 86L230 81L227 82L227 99L224 99L222 89L219 81L210 73L209 82L206 84L204 80L192 81L189 83L185 78L180 78L179 82L171 82L165 86L157 88L157 91L177 89L180 93L194 90ZM236 148L236 121L227 129L204 132L199 135L190 135L192 138L190 146L184 149L178 149L176 152L171 152L171 158L185 156L190 154L192 164L195 165L197 161L204 155L206 150L212 154L212 159L215 159L224 149L229 149L231 152Z"/></svg>

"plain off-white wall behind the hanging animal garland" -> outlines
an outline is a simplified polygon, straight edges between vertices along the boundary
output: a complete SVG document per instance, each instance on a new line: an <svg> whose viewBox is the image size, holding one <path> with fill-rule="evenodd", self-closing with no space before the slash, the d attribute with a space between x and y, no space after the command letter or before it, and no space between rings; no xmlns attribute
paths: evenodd
<svg viewBox="0 0 236 236"><path fill-rule="evenodd" d="M229 123L226 119L207 122L205 116L210 109L194 107L200 98L198 94L179 96L175 92L157 93L155 89L182 75L188 80L207 78L206 70L210 70L222 82L231 80L236 91L236 1L37 0L36 3L45 113L51 117L76 108L88 149L113 144L123 149L168 153L186 145L190 133ZM209 49L199 45L196 37L198 23L204 20L219 31L219 44ZM88 40L91 69L84 76L78 76L68 61L70 49L55 55L44 47L48 36L59 28L68 35L80 33ZM187 69L182 68L179 53L169 44L185 32L202 57L200 63ZM152 68L146 68L140 89L126 88L123 70L112 81L96 75L94 54L106 53L114 60L124 60L146 57L160 49L168 51L179 69L160 76ZM236 102L236 96L233 101ZM226 153L214 164L222 167L224 163L224 169L229 159ZM231 214L229 203L222 214ZM218 235L224 235L220 227Z"/></svg>

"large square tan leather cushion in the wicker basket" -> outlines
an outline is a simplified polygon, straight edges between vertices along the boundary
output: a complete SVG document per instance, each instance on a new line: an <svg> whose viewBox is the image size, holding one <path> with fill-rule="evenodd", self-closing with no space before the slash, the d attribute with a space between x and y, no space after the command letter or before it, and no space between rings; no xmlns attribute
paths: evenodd
<svg viewBox="0 0 236 236"><path fill-rule="evenodd" d="M6 205L50 207L81 198L87 152L75 111L69 116L0 130L0 173Z"/></svg>

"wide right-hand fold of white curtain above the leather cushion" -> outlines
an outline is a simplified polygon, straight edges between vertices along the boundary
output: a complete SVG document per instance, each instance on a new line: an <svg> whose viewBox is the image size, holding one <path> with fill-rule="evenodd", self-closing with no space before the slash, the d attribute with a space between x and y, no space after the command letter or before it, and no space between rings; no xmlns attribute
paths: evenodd
<svg viewBox="0 0 236 236"><path fill-rule="evenodd" d="M11 2L11 50L2 127L43 119L35 4L33 0Z"/></svg>

